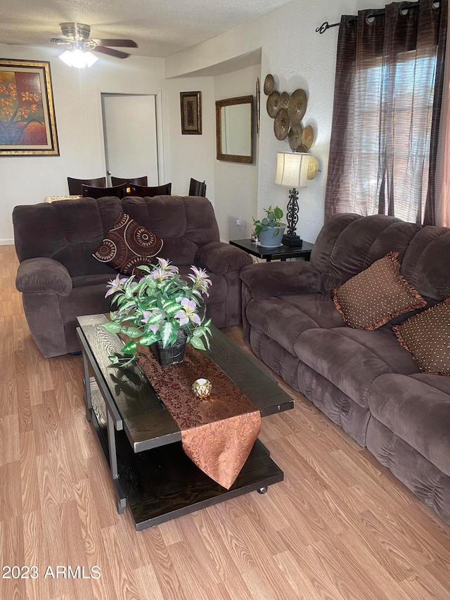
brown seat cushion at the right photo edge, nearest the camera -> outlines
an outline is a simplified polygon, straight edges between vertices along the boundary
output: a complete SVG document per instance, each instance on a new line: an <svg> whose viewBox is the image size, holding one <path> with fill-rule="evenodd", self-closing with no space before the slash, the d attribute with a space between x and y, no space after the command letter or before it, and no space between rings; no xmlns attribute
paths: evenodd
<svg viewBox="0 0 450 600"><path fill-rule="evenodd" d="M448 393L423 379L386 374L372 383L368 406L375 419L450 475Z"/></svg>

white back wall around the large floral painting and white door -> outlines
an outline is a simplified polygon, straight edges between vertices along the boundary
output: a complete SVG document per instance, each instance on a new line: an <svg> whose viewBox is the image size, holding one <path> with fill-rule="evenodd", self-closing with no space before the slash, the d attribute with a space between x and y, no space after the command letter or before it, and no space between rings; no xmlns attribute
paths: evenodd
<svg viewBox="0 0 450 600"><path fill-rule="evenodd" d="M101 92L158 94L166 102L164 60L130 56L101 57L90 69L77 70L57 58L58 48L0 44L2 58L50 60L60 156L0 156L0 243L13 243L11 213L18 204L44 202L68 193L67 177L105 174ZM162 125L167 122L163 110ZM164 132L165 133L165 132ZM167 143L167 134L165 134ZM165 160L165 159L163 159ZM169 171L167 162L166 173Z"/></svg>

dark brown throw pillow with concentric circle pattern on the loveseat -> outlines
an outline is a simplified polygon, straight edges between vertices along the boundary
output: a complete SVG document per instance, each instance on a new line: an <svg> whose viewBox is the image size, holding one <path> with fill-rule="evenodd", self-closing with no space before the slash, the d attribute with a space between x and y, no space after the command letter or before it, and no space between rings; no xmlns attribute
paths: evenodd
<svg viewBox="0 0 450 600"><path fill-rule="evenodd" d="M93 256L120 273L134 275L140 264L153 264L152 259L160 253L162 243L158 236L121 212Z"/></svg>

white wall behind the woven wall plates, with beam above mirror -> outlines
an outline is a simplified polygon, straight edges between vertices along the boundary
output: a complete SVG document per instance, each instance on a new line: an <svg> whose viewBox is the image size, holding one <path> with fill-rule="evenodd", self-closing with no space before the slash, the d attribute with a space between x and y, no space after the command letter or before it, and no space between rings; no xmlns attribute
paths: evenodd
<svg viewBox="0 0 450 600"><path fill-rule="evenodd" d="M296 0L271 13L266 13L248 23L220 36L199 44L183 53L165 60L166 77L180 77L190 72L211 68L236 56L262 48L261 85L268 73L276 80L276 89L288 91L297 88L307 91L308 108L303 125L312 125L316 141L311 154L319 160L321 172L309 182L307 189L300 189L300 215L297 233L307 241L314 241L323 225L323 200L326 189L328 151L331 118L333 113L334 77L338 27L321 35L316 33L324 21L338 23L340 15L356 14L358 10L372 6L385 6L385 0ZM231 80L234 77L231 74ZM236 77L238 77L236 75ZM254 93L250 90L249 93ZM226 94L231 97L233 94ZM266 112L266 96L261 94L261 132L259 135L259 167L257 174L257 208L268 204L280 205L285 210L288 189L274 184L277 151L289 150L288 141L278 141L274 135L274 120ZM219 182L220 179L220 182ZM219 206L228 207L229 217L235 214L232 194L219 202L220 189L233 185L233 180L221 178L217 172L216 211ZM252 210L250 195L241 196L248 212ZM226 217L219 215L221 234L226 234Z"/></svg>

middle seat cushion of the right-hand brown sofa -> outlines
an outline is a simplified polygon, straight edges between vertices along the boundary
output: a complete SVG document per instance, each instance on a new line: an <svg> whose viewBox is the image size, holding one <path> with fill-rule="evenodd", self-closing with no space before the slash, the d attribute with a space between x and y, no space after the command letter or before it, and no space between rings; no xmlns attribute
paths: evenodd
<svg viewBox="0 0 450 600"><path fill-rule="evenodd" d="M380 375L419 371L394 333L381 329L309 329L297 338L295 352L304 364L362 407L367 407L368 388Z"/></svg>

